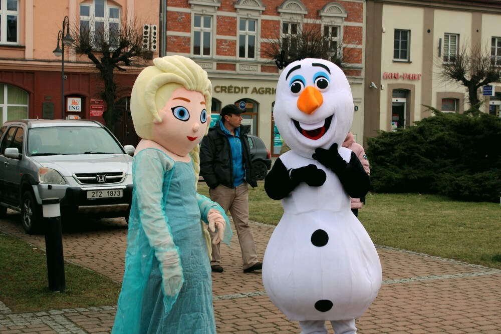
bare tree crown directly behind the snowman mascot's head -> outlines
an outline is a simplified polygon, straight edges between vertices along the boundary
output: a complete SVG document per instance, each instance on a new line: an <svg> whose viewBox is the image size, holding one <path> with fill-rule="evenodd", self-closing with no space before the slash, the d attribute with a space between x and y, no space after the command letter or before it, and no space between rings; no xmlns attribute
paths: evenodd
<svg viewBox="0 0 501 334"><path fill-rule="evenodd" d="M296 59L325 59L346 73L357 55L353 49L343 47L343 41L338 39L338 28L326 26L322 30L321 25L313 21L285 24L273 38L263 39L261 55L271 60L282 58L286 64Z"/></svg>

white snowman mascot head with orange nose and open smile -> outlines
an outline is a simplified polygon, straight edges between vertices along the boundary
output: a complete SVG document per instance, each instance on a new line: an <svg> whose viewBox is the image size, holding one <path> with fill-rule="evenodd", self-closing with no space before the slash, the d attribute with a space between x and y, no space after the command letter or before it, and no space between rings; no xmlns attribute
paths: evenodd
<svg viewBox="0 0 501 334"><path fill-rule="evenodd" d="M287 145L305 158L318 147L341 147L353 121L350 84L329 61L291 63L280 75L273 115Z"/></svg>

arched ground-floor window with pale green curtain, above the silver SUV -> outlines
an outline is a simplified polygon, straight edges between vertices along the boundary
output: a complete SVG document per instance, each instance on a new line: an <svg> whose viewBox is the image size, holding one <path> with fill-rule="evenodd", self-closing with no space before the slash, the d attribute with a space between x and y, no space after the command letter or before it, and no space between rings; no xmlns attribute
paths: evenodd
<svg viewBox="0 0 501 334"><path fill-rule="evenodd" d="M0 124L28 118L28 93L15 86L0 84Z"/></svg>

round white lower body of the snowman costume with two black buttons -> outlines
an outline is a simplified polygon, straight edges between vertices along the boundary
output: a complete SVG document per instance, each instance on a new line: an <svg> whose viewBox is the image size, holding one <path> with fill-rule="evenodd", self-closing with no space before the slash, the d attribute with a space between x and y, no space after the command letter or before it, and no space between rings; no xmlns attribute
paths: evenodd
<svg viewBox="0 0 501 334"><path fill-rule="evenodd" d="M265 289L291 320L359 317L381 279L376 248L349 206L285 212L263 259Z"/></svg>

